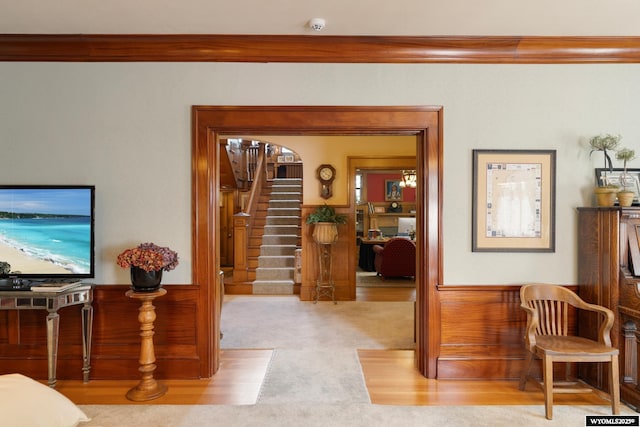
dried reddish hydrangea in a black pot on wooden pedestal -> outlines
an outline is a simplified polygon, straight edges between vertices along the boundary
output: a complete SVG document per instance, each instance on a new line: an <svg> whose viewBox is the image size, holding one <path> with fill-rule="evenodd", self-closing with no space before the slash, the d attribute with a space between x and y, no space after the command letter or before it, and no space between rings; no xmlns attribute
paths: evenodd
<svg viewBox="0 0 640 427"><path fill-rule="evenodd" d="M131 287L138 292L152 292L160 288L162 272L178 265L178 254L155 243L141 243L118 255L117 263L131 269Z"/></svg>

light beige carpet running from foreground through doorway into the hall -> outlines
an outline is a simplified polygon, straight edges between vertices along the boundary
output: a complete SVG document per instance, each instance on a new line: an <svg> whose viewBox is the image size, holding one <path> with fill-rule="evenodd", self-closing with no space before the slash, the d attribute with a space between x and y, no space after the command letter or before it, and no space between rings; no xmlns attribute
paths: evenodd
<svg viewBox="0 0 640 427"><path fill-rule="evenodd" d="M301 302L226 296L224 349L274 348L255 405L81 405L80 427L582 427L609 406L392 406L370 404L357 349L412 349L411 302ZM637 415L626 406L622 413Z"/></svg>

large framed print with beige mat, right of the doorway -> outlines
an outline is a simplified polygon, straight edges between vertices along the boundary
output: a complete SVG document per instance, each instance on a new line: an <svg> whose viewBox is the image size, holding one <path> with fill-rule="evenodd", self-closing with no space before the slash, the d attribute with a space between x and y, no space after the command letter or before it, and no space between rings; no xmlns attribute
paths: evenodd
<svg viewBox="0 0 640 427"><path fill-rule="evenodd" d="M555 150L473 150L473 252L554 252L555 179Z"/></svg>

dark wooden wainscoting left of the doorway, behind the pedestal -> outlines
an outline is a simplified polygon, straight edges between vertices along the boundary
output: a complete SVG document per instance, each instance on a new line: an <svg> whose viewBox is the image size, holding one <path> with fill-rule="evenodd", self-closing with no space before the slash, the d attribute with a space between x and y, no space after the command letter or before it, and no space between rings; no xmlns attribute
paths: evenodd
<svg viewBox="0 0 640 427"><path fill-rule="evenodd" d="M157 298L153 341L157 378L199 378L198 288L168 285ZM129 286L94 288L91 379L136 379L140 357L138 301L125 296ZM80 306L60 310L58 379L82 379ZM0 311L0 374L20 372L47 378L46 310Z"/></svg>

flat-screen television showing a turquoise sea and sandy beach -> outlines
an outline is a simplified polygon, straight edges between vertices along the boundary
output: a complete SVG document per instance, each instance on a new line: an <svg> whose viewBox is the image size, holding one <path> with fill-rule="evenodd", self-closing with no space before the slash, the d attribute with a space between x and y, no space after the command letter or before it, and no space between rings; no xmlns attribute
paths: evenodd
<svg viewBox="0 0 640 427"><path fill-rule="evenodd" d="M0 185L0 277L93 278L95 187Z"/></svg>

